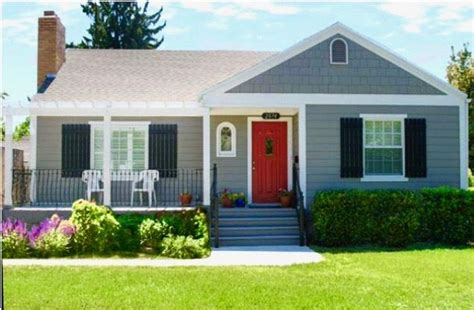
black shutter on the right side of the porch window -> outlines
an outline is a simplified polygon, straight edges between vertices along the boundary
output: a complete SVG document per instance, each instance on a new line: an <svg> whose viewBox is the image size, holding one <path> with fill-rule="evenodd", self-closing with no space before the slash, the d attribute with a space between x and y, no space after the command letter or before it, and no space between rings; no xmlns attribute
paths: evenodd
<svg viewBox="0 0 474 310"><path fill-rule="evenodd" d="M150 125L148 168L160 172L161 178L174 178L178 167L178 126Z"/></svg>

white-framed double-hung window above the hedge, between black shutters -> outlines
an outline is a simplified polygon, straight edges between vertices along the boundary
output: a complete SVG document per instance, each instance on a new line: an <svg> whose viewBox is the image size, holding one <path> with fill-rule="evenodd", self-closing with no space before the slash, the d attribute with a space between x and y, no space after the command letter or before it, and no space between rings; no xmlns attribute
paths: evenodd
<svg viewBox="0 0 474 310"><path fill-rule="evenodd" d="M366 180L404 180L404 118L396 115L363 117Z"/></svg>

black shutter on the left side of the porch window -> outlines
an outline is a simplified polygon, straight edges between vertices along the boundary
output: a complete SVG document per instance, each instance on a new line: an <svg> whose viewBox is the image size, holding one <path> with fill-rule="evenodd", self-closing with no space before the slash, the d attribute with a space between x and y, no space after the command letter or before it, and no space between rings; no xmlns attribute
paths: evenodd
<svg viewBox="0 0 474 310"><path fill-rule="evenodd" d="M81 177L82 171L90 168L91 127L84 124L62 126L63 177Z"/></svg>

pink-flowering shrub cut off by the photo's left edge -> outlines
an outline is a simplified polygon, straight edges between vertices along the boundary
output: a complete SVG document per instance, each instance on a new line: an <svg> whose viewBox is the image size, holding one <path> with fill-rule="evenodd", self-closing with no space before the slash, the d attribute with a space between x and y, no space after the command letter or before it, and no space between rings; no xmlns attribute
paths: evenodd
<svg viewBox="0 0 474 310"><path fill-rule="evenodd" d="M28 257L28 230L21 220L7 218L0 228L2 236L2 257Z"/></svg>

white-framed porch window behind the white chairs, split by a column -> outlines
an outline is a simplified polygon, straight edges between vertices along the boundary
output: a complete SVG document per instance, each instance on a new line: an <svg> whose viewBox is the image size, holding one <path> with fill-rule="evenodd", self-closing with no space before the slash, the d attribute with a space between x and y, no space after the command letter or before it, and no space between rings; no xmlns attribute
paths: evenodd
<svg viewBox="0 0 474 310"><path fill-rule="evenodd" d="M112 170L143 170L148 168L148 123L112 123ZM92 169L102 169L104 162L104 129L102 123L92 126Z"/></svg>

